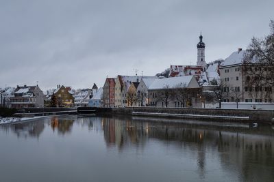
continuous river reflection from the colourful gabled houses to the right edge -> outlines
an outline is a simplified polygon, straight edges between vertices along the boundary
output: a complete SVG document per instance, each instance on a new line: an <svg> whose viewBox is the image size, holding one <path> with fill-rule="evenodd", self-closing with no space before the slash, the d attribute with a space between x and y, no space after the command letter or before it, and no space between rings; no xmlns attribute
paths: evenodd
<svg viewBox="0 0 274 182"><path fill-rule="evenodd" d="M107 118L101 123L105 141L119 146L119 149L130 144L143 145L147 138L177 142L175 147L188 149L192 151L191 155L197 157L197 170L201 179L204 179L208 168L207 153L211 153L211 157L216 155L225 171L236 176L244 175L241 177L244 181L252 181L255 170L262 170L260 166L271 166L273 169L273 136L261 136L258 131L254 131L255 134L245 134L248 132L246 128L243 129L243 133L236 133L214 130L210 127L200 129L197 125L132 122ZM274 178L273 170L264 170L262 174L269 177L271 172Z"/></svg>

